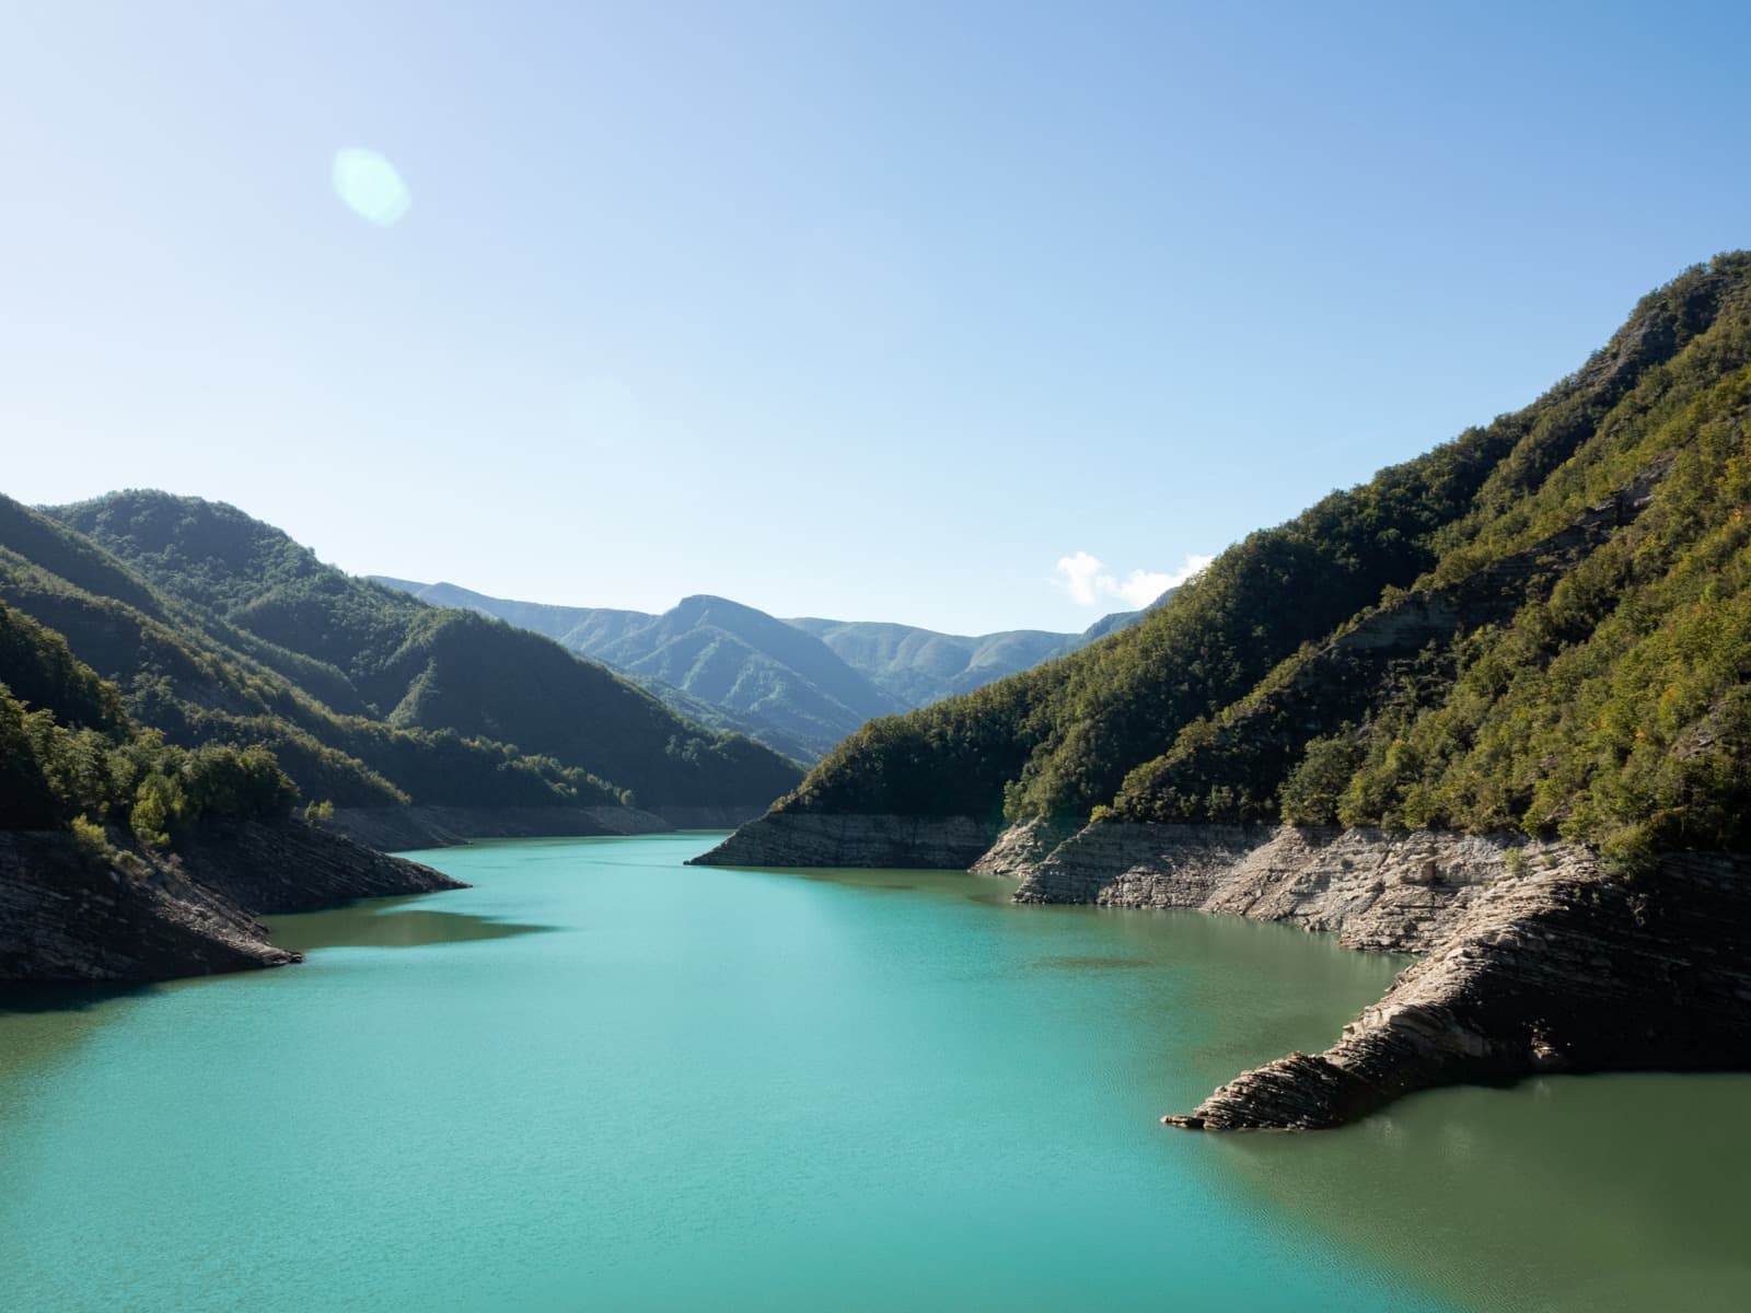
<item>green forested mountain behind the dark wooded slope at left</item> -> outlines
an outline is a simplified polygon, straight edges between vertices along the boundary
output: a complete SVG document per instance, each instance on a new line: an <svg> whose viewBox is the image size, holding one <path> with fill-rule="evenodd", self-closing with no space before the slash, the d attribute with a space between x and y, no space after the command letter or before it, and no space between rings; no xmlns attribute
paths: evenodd
<svg viewBox="0 0 1751 1313"><path fill-rule="evenodd" d="M229 506L0 497L0 600L182 748L263 746L310 800L758 805L795 769L557 644L322 565Z"/></svg>

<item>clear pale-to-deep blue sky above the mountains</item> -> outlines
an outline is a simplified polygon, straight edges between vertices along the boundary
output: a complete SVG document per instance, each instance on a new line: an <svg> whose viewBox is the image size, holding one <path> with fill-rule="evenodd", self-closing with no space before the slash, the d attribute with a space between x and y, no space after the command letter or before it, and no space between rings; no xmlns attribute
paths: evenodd
<svg viewBox="0 0 1751 1313"><path fill-rule="evenodd" d="M0 485L1080 628L1751 245L1747 53L1742 4L11 0Z"/></svg>

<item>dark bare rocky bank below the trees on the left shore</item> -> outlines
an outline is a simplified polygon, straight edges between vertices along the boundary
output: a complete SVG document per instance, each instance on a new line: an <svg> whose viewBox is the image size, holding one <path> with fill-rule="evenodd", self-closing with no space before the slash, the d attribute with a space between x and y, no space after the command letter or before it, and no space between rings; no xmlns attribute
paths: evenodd
<svg viewBox="0 0 1751 1313"><path fill-rule="evenodd" d="M175 856L0 832L0 980L168 980L299 954L257 914L462 888L413 861L292 823L203 828Z"/></svg>

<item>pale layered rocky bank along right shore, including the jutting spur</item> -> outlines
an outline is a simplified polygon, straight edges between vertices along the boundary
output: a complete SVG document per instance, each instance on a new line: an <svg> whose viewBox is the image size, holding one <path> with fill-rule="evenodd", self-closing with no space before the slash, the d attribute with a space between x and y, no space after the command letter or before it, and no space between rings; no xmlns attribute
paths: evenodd
<svg viewBox="0 0 1751 1313"><path fill-rule="evenodd" d="M1508 835L1105 823L1031 865L1016 896L1294 921L1427 954L1324 1054L1248 1071L1173 1126L1315 1129L1443 1084L1751 1064L1742 856L1669 854L1630 879L1585 847Z"/></svg>

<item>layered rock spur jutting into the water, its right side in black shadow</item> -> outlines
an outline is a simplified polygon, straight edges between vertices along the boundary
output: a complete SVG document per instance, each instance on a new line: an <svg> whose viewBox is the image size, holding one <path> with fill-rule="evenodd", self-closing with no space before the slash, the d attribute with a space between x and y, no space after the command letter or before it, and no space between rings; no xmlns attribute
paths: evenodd
<svg viewBox="0 0 1751 1313"><path fill-rule="evenodd" d="M1537 1071L1751 1064L1751 861L1674 854L1634 881L1585 851L1502 879L1324 1054L1289 1054L1163 1120L1320 1129L1411 1091Z"/></svg>

